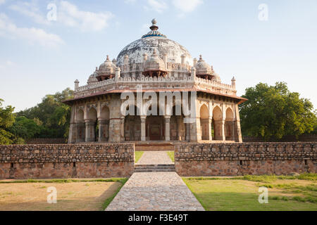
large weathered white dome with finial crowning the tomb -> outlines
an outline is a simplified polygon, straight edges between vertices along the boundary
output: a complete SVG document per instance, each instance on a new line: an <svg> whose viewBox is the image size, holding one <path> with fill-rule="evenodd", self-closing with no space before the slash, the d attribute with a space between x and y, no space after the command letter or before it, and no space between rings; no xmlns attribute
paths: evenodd
<svg viewBox="0 0 317 225"><path fill-rule="evenodd" d="M153 25L150 27L151 32L145 34L142 39L132 42L119 53L117 65L123 65L125 55L129 56L130 63L143 63L144 53L147 56L151 56L154 50L156 50L160 58L163 58L163 55L166 54L167 62L181 63L181 56L184 55L186 56L185 62L188 65L193 65L192 56L189 51L158 32L159 27L156 26L155 20L152 20L152 23Z"/></svg>

